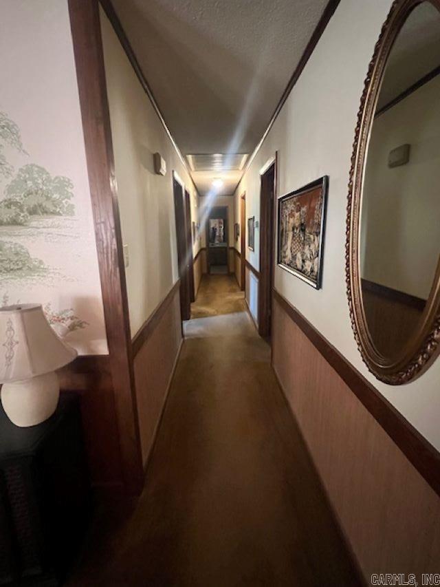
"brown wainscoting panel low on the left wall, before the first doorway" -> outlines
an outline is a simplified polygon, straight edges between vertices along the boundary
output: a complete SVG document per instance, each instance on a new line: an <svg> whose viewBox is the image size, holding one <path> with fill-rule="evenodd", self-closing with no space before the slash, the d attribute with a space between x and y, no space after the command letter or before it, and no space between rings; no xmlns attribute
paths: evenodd
<svg viewBox="0 0 440 587"><path fill-rule="evenodd" d="M133 339L137 414L144 467L153 447L181 343L179 288L174 286Z"/></svg>

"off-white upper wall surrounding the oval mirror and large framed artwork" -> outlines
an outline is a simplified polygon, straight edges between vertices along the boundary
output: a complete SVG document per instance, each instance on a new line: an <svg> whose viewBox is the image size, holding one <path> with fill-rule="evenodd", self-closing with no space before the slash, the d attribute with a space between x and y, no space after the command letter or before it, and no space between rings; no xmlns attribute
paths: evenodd
<svg viewBox="0 0 440 587"><path fill-rule="evenodd" d="M345 291L345 217L351 148L364 78L391 0L342 0L263 147L236 190L259 219L259 169L278 151L278 196L329 175L322 289L276 268L275 286L423 436L440 448L440 361L416 381L380 383L356 347ZM347 23L350 23L347 26ZM259 233L247 257L259 268Z"/></svg>

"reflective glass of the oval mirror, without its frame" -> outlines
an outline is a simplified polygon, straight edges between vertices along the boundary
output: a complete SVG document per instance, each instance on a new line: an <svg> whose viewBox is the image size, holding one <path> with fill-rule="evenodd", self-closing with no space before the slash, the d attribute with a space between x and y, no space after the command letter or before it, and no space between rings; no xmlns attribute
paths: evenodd
<svg viewBox="0 0 440 587"><path fill-rule="evenodd" d="M388 56L367 151L360 275L371 341L399 358L439 261L440 12L420 3Z"/></svg>

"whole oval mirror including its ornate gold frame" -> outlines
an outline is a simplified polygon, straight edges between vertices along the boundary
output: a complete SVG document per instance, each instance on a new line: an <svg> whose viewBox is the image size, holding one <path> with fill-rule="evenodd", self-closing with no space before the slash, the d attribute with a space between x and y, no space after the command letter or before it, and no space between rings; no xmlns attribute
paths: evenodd
<svg viewBox="0 0 440 587"><path fill-rule="evenodd" d="M439 350L440 0L397 0L366 78L347 213L362 357L406 383Z"/></svg>

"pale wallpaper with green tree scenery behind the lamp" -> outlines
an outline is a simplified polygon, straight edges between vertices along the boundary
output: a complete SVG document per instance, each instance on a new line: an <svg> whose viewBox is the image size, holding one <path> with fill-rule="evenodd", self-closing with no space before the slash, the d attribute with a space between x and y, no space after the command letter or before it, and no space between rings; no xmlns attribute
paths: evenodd
<svg viewBox="0 0 440 587"><path fill-rule="evenodd" d="M105 354L67 1L5 3L0 50L14 59L0 63L0 306L41 303L80 354Z"/></svg>

